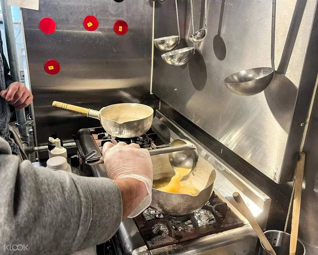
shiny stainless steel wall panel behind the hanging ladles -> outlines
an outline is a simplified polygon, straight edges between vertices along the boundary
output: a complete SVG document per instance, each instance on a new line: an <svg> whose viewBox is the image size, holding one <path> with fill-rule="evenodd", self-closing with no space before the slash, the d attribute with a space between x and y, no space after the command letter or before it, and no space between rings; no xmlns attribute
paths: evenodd
<svg viewBox="0 0 318 255"><path fill-rule="evenodd" d="M152 92L273 181L290 181L314 87L314 79L301 83L301 76L316 4L277 1L277 74L264 92L244 97L223 79L270 66L272 1L209 0L208 35L188 64L169 66L155 49ZM196 31L204 0L193 6ZM155 38L177 34L174 1L156 2L155 10ZM183 39L177 48L192 46L190 0L178 0L178 10Z"/></svg>

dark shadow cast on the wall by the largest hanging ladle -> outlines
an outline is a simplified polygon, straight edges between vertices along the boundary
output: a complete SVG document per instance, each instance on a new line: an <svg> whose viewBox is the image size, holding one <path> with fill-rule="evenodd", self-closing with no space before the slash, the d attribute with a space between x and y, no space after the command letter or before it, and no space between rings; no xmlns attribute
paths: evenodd
<svg viewBox="0 0 318 255"><path fill-rule="evenodd" d="M264 90L265 98L275 119L280 126L288 133L290 122L294 112L294 105L297 96L297 87L285 75L292 55L301 19L307 0L297 0L287 33L284 49L280 58L277 71L269 86Z"/></svg>

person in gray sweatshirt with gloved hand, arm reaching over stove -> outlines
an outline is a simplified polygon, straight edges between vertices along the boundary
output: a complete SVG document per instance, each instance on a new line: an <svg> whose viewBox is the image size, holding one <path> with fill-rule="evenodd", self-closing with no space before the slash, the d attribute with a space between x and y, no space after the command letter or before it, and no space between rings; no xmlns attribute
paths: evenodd
<svg viewBox="0 0 318 255"><path fill-rule="evenodd" d="M152 162L136 144L105 143L109 178L19 164L0 137L0 254L71 254L107 241L151 202Z"/></svg>

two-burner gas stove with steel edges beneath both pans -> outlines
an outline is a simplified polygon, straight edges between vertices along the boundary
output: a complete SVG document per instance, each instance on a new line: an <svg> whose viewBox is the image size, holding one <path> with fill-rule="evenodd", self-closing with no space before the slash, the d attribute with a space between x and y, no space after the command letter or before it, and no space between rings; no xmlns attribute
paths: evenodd
<svg viewBox="0 0 318 255"><path fill-rule="evenodd" d="M197 146L199 156L215 168L215 192L203 208L190 215L163 215L147 208L134 219L125 219L116 235L108 242L107 249L111 250L109 254L255 254L257 237L229 200L233 200L233 192L240 192L237 186L244 188L252 197L240 192L243 199L253 214L258 215L259 223L264 225L269 198L264 197L263 192L248 183L218 156L159 111L156 112L151 129L142 136L122 139L110 136L103 128L86 128L79 130L74 140L79 157L84 158L89 152L96 150L94 158L99 159L105 142L135 142L141 148L156 149L169 146L169 143L177 138L193 142ZM85 160L81 161L80 167L88 176L107 176L104 164L87 165L84 162ZM234 176L235 179L231 179Z"/></svg>

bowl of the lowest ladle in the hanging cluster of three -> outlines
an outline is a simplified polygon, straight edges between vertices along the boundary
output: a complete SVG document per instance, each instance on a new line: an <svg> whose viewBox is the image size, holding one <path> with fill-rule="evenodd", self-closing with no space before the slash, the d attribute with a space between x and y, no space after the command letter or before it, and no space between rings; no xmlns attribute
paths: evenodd
<svg viewBox="0 0 318 255"><path fill-rule="evenodd" d="M182 66L189 62L193 54L194 47L186 47L164 53L161 55L161 57L169 65Z"/></svg>

